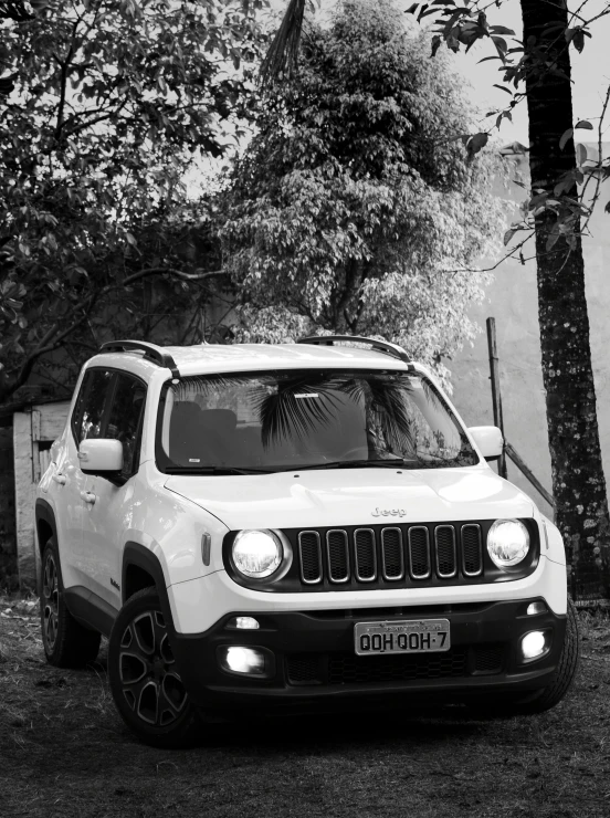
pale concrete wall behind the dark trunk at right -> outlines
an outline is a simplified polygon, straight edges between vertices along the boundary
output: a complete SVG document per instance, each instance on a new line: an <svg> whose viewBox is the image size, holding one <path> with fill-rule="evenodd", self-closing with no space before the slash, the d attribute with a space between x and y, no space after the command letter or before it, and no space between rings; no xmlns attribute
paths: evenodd
<svg viewBox="0 0 610 818"><path fill-rule="evenodd" d="M610 198L608 187L608 182L602 187L591 219L592 235L585 241L585 262L598 421L606 479L610 481L610 214L603 212ZM512 195L515 201L524 198L524 191L516 187ZM532 249L526 256L533 252ZM550 491L537 298L535 263L504 262L488 289L487 302L471 311L483 332L474 347L463 349L449 366L453 398L466 423L493 423L485 319L494 316L506 438ZM530 494L543 512L550 513L547 503L511 462L508 479Z"/></svg>

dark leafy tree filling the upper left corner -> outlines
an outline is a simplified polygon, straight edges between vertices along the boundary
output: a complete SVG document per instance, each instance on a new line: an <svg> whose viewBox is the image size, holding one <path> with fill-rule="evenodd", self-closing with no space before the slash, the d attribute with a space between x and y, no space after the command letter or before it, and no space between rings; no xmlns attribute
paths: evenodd
<svg viewBox="0 0 610 818"><path fill-rule="evenodd" d="M0 3L0 402L57 349L77 368L109 316L151 332L204 298L185 176L251 115L261 6Z"/></svg>

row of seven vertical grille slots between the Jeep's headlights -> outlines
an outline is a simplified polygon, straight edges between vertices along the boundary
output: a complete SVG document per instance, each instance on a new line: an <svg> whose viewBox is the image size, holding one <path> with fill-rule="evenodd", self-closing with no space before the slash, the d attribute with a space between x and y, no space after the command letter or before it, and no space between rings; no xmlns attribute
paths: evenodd
<svg viewBox="0 0 610 818"><path fill-rule="evenodd" d="M449 581L483 574L477 523L329 528L297 534L301 581L315 586Z"/></svg>

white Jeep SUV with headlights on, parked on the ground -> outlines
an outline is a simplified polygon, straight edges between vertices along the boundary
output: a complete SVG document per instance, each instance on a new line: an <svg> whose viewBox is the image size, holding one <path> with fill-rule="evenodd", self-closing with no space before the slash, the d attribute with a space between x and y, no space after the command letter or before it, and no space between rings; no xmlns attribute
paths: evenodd
<svg viewBox="0 0 610 818"><path fill-rule="evenodd" d="M104 344L36 494L46 657L108 637L120 714L164 746L202 716L551 707L564 544L502 445L392 344Z"/></svg>

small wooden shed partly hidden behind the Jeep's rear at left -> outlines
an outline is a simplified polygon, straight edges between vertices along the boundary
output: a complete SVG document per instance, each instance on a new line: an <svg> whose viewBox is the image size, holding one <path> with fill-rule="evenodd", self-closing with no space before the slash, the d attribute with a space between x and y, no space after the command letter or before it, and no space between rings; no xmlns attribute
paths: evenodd
<svg viewBox="0 0 610 818"><path fill-rule="evenodd" d="M50 462L51 445L65 426L70 401L32 403L13 413L17 563L21 587L34 587L39 554L34 545L34 495Z"/></svg>

